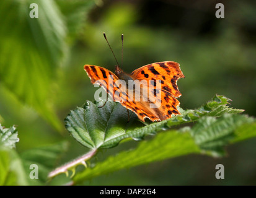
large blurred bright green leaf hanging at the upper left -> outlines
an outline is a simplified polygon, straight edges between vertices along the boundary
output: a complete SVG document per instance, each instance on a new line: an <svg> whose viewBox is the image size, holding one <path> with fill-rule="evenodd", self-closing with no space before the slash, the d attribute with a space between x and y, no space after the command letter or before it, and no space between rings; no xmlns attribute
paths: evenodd
<svg viewBox="0 0 256 198"><path fill-rule="evenodd" d="M30 3L38 18L30 18ZM55 1L0 1L0 79L23 103L60 130L52 80L66 54L66 25Z"/></svg>

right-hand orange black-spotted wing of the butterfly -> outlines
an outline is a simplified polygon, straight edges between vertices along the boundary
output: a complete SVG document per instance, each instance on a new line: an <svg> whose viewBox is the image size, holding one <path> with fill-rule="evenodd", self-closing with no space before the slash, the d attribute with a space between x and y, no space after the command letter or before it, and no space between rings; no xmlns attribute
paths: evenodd
<svg viewBox="0 0 256 198"><path fill-rule="evenodd" d="M133 71L131 77L144 82L146 80L149 93L161 103L159 108L151 108L151 111L154 111L152 114L144 112L144 108L141 108L143 120L148 117L151 121L158 121L169 119L172 114L180 114L177 110L180 102L176 98L180 97L181 93L177 87L177 80L185 76L180 70L179 63L166 61L148 64ZM149 103L140 101L135 105L148 106Z"/></svg>

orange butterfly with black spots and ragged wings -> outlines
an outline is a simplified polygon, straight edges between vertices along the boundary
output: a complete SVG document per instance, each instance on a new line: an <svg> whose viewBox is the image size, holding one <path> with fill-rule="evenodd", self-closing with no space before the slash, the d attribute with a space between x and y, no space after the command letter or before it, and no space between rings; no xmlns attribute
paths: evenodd
<svg viewBox="0 0 256 198"><path fill-rule="evenodd" d="M118 65L115 66L115 74L104 67L89 64L84 66L84 70L92 84L99 84L113 101L120 102L126 109L136 113L143 122L146 118L162 121L171 118L172 114L180 114L177 98L181 93L177 80L185 76L177 62L154 62L139 67L131 74L124 72ZM122 84L118 83L120 80ZM130 86L130 82L136 83Z"/></svg>

